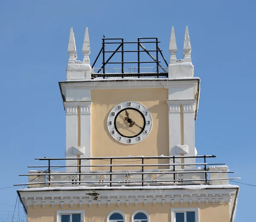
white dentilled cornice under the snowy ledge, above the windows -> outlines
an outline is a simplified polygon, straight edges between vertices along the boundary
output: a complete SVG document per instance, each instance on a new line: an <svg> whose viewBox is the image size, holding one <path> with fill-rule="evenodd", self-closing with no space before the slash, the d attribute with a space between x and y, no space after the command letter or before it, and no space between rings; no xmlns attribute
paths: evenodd
<svg viewBox="0 0 256 222"><path fill-rule="evenodd" d="M198 185L199 187L200 185ZM189 187L189 186L188 186ZM33 189L33 188L31 188ZM41 188L38 188L39 190ZM189 192L188 192L189 191ZM98 199L94 199L93 197L89 197L89 193L96 192L96 197ZM63 202L63 206L69 206L72 208L73 205L79 205L81 208L83 204L88 204L88 206L97 205L101 207L102 205L108 205L108 207L115 205L119 207L121 203L125 203L128 206L138 206L139 203L143 205L153 205L154 203L157 206L157 203L161 205L166 205L166 203L170 203L170 205L174 206L177 203L180 205L185 205L188 203L192 205L193 203L202 204L206 203L206 205L214 205L215 202L223 202L229 203L230 208L233 208L233 202L235 201L236 196L236 188L228 188L228 189L169 189L169 190L122 190L116 192L113 187L113 190L88 190L85 192L81 192L81 190L77 191L27 191L27 192L19 192L21 201L23 202L25 208L27 209L29 206L37 206L42 207L43 205L51 205L54 208L55 205L61 205ZM44 199L43 199L44 197ZM61 198L62 197L62 198ZM44 201L42 201L44 200Z"/></svg>

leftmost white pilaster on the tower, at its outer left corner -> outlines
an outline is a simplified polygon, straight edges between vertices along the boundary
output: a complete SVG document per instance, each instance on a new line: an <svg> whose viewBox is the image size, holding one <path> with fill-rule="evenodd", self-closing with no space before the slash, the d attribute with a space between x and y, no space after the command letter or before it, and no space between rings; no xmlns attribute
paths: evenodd
<svg viewBox="0 0 256 222"><path fill-rule="evenodd" d="M77 104L63 102L66 111L66 158L76 158L73 146L77 146ZM76 160L66 160L66 166L76 165ZM75 167L66 167L66 171L76 171Z"/></svg>

